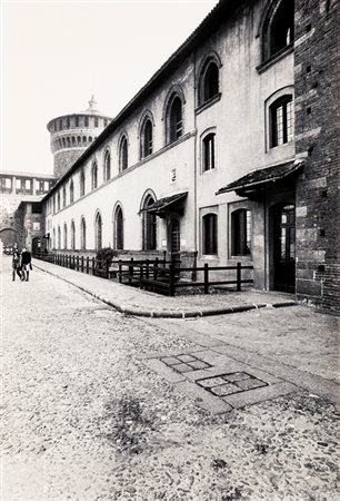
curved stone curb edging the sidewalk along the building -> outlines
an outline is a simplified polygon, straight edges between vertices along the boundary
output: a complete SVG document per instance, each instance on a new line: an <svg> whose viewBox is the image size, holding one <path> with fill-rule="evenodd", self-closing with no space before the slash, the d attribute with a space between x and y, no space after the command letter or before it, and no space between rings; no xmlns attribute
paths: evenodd
<svg viewBox="0 0 340 501"><path fill-rule="evenodd" d="M107 305L111 306L112 308L117 310L120 313L123 313L124 315L131 315L131 316L143 316L143 317L151 317L151 318L196 318L198 316L213 316L213 315L229 315L231 313L241 313L241 312L248 312L250 310L259 310L259 308L280 308L280 307L288 307L288 306L296 306L298 303L296 301L284 301L281 303L258 303L258 304L244 304L244 305L238 305L238 306L228 306L228 307L220 307L220 308L206 308L206 310L178 310L178 311L169 311L169 310L142 310L142 308L133 308L133 307L126 307L122 304L112 302L111 299L108 299L107 297L102 296L101 294L97 294L93 291L90 291L87 287L82 287L81 285L74 284L72 281L69 281L68 278L63 278L60 275L50 272L49 269L41 268L39 265L34 263L34 266L40 269L41 272L48 273L63 282L67 282L68 284L72 285L73 287L79 288L80 291L91 295L92 297L96 297L97 299L101 301L102 303L106 303Z"/></svg>

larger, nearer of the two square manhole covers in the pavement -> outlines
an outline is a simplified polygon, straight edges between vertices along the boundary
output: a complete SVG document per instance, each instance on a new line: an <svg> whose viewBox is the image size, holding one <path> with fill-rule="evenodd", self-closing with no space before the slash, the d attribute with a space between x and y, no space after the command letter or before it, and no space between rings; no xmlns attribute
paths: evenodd
<svg viewBox="0 0 340 501"><path fill-rule="evenodd" d="M247 374L247 372L233 372L231 374L219 374L211 377L197 380L197 384L208 390L216 396L228 396L233 393L246 392L256 387L268 386L264 381Z"/></svg>

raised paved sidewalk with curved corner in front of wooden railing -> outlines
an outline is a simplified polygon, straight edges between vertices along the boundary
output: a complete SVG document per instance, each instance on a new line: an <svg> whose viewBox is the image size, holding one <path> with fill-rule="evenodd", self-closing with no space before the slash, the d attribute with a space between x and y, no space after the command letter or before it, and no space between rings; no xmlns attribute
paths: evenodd
<svg viewBox="0 0 340 501"><path fill-rule="evenodd" d="M79 287L127 315L189 318L296 305L291 295L258 291L167 297L40 259L33 259L33 266Z"/></svg>

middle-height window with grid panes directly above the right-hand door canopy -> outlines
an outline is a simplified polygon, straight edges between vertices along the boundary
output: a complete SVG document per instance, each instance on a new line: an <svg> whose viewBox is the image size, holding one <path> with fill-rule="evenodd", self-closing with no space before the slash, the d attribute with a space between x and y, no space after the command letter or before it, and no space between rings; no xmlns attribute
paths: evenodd
<svg viewBox="0 0 340 501"><path fill-rule="evenodd" d="M293 140L292 96L286 95L269 107L270 147Z"/></svg>

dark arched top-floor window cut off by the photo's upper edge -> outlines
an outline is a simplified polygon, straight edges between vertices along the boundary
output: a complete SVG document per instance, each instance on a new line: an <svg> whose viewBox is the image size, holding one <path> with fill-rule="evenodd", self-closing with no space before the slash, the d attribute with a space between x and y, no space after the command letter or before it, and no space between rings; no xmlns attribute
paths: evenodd
<svg viewBox="0 0 340 501"><path fill-rule="evenodd" d="M273 2L262 26L263 61L289 47L294 40L294 0Z"/></svg>

